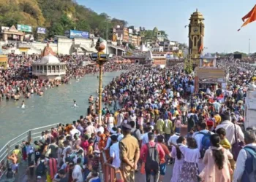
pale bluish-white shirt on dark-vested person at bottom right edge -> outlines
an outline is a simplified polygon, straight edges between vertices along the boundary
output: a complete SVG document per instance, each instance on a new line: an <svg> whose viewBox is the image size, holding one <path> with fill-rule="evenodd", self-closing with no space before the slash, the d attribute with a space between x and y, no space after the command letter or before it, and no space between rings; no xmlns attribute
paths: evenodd
<svg viewBox="0 0 256 182"><path fill-rule="evenodd" d="M250 143L246 146L250 146L256 149L256 143ZM241 151L238 154L238 158L236 160L236 170L234 171L233 175L233 182L241 181L242 175L244 174L245 169L245 161L246 161L247 155L246 151L244 149L241 149Z"/></svg>

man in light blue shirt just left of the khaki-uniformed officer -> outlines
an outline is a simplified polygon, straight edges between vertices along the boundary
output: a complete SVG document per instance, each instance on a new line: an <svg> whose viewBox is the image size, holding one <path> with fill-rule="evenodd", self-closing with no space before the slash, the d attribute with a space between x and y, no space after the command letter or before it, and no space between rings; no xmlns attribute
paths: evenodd
<svg viewBox="0 0 256 182"><path fill-rule="evenodd" d="M120 157L119 157L119 142L117 140L117 135L110 136L112 141L112 146L110 146L110 158L108 161L112 161L112 165L116 168L120 167Z"/></svg>

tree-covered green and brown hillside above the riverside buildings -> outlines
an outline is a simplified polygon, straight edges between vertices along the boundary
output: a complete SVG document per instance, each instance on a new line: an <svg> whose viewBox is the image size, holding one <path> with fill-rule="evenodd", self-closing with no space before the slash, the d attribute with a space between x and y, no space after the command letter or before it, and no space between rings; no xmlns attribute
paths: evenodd
<svg viewBox="0 0 256 182"><path fill-rule="evenodd" d="M99 15L72 0L0 0L1 26L31 25L34 32L38 26L45 27L47 37L64 35L69 29L105 37L108 19L106 13ZM115 25L126 26L127 22L113 18L108 27Z"/></svg>

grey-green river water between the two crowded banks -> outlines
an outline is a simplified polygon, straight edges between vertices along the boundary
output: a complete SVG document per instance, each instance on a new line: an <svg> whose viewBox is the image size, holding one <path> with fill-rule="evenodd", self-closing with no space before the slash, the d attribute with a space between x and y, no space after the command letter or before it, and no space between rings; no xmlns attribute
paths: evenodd
<svg viewBox="0 0 256 182"><path fill-rule="evenodd" d="M105 73L103 87L112 81L113 77L123 71ZM25 100L27 108L20 108L22 98L15 102L2 101L0 103L0 149L7 141L34 127L42 127L54 123L71 123L85 115L89 106L90 95L97 97L99 87L97 75L86 75L79 82L62 84L60 87L48 89L42 96L32 95ZM77 108L73 108L73 100L77 101Z"/></svg>

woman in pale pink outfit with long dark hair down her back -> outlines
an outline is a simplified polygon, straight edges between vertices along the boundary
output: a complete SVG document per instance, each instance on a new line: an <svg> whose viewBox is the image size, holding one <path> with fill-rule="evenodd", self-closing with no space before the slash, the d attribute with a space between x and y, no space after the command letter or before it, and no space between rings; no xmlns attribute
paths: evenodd
<svg viewBox="0 0 256 182"><path fill-rule="evenodd" d="M211 135L210 141L211 146L203 157L205 168L199 176L205 182L230 182L233 172L228 159L233 159L233 155L219 144L219 135Z"/></svg>

